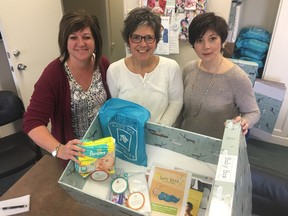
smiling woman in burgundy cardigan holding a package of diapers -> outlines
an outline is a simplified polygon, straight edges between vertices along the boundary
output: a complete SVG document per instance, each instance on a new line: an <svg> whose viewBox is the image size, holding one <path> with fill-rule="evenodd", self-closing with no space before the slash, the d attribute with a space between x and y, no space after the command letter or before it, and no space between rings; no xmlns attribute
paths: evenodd
<svg viewBox="0 0 288 216"><path fill-rule="evenodd" d="M83 156L83 149L77 144L110 97L106 84L110 63L102 56L98 19L84 10L63 15L58 44L60 57L36 82L23 129L54 157L79 162L76 156Z"/></svg>

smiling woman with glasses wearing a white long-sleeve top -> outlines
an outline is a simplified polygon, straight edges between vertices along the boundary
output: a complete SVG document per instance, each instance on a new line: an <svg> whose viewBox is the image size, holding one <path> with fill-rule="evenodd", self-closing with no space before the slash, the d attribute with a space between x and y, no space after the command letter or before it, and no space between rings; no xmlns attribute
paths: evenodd
<svg viewBox="0 0 288 216"><path fill-rule="evenodd" d="M148 8L133 9L122 36L131 56L107 70L111 97L138 103L150 111L151 122L172 126L183 105L183 82L176 61L154 55L161 39L160 16Z"/></svg>

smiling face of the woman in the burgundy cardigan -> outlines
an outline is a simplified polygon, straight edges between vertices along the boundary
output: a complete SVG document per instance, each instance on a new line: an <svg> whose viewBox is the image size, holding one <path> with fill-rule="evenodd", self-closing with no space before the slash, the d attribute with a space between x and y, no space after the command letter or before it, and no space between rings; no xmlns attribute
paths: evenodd
<svg viewBox="0 0 288 216"><path fill-rule="evenodd" d="M67 41L67 50L71 60L90 60L95 51L95 41L90 28L87 27L70 34Z"/></svg>

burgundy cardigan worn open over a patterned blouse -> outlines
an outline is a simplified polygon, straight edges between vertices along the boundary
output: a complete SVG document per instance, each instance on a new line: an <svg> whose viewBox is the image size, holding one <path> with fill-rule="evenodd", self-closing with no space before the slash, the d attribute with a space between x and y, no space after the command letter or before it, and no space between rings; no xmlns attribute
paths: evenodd
<svg viewBox="0 0 288 216"><path fill-rule="evenodd" d="M110 98L106 82L106 71L110 63L102 57L99 63L104 88ZM45 125L51 120L51 133L62 144L74 139L70 86L59 58L52 61L43 71L34 86L30 104L24 114L23 130L29 133L33 128Z"/></svg>

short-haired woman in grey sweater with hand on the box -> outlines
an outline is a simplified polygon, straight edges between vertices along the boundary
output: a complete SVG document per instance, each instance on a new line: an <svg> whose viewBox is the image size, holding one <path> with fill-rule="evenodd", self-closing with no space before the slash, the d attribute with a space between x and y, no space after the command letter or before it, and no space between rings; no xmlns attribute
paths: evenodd
<svg viewBox="0 0 288 216"><path fill-rule="evenodd" d="M226 21L212 12L189 25L189 43L200 59L183 69L184 130L222 139L227 119L240 121L246 134L260 118L248 75L221 54L227 35Z"/></svg>

